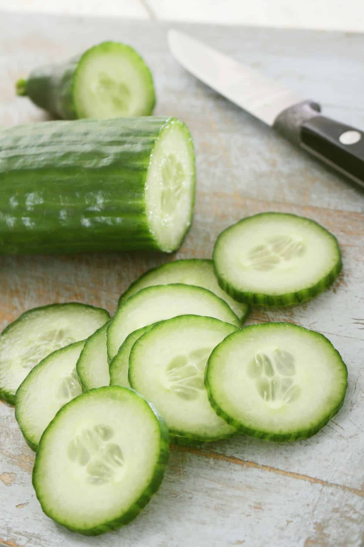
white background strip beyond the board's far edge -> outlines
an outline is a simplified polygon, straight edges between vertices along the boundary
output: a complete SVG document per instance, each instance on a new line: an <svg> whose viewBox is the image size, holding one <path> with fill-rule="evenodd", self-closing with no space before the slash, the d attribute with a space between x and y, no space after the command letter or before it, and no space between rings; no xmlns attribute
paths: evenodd
<svg viewBox="0 0 364 547"><path fill-rule="evenodd" d="M0 0L1 10L364 32L364 0Z"/></svg>

